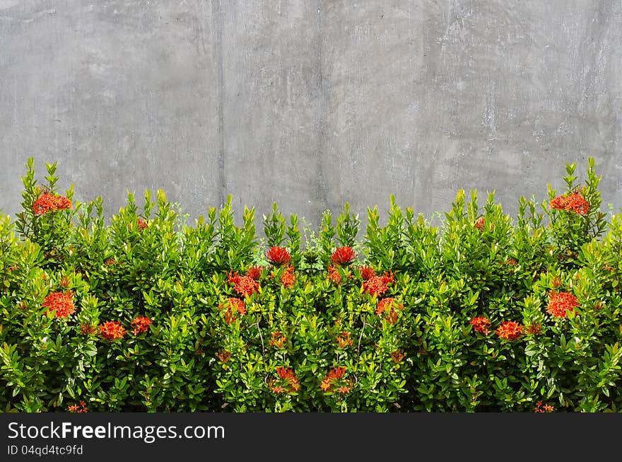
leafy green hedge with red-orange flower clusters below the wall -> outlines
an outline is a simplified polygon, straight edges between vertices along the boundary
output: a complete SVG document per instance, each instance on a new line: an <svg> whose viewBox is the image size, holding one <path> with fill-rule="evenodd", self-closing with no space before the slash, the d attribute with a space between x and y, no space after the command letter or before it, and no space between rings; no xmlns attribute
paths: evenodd
<svg viewBox="0 0 622 462"><path fill-rule="evenodd" d="M317 229L276 204L193 226L158 190L106 219L29 159L0 215L5 412L602 412L622 393L622 214L593 159L515 219L393 197ZM363 238L358 238L363 236Z"/></svg>

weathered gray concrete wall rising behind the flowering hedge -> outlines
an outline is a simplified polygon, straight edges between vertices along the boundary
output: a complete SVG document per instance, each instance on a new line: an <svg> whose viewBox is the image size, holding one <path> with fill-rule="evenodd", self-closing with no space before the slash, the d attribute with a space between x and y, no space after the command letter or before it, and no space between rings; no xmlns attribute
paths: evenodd
<svg viewBox="0 0 622 462"><path fill-rule="evenodd" d="M0 0L0 207L34 156L117 212L162 188L317 224L460 187L514 214L599 162L622 207L620 0Z"/></svg>

